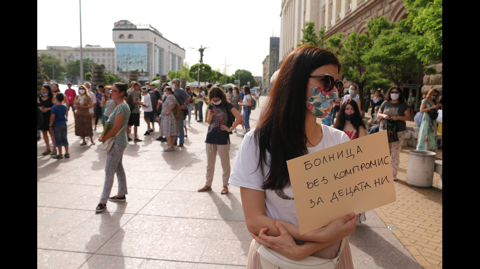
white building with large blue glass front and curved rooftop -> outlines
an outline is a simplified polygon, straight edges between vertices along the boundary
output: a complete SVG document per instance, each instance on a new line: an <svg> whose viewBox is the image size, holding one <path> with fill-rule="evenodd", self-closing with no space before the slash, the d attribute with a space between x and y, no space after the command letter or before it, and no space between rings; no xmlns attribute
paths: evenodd
<svg viewBox="0 0 480 269"><path fill-rule="evenodd" d="M166 75L170 70L179 70L185 60L185 49L164 38L162 33L150 24L117 21L112 34L116 71L122 77L126 77L129 70L138 69L139 80L151 80L156 76Z"/></svg>

